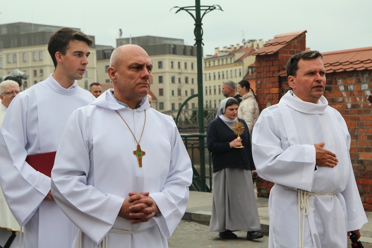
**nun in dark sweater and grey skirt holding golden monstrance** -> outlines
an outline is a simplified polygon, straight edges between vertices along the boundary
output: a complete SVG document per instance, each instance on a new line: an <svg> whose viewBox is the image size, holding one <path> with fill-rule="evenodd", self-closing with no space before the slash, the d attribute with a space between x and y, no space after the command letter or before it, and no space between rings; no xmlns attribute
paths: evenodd
<svg viewBox="0 0 372 248"><path fill-rule="evenodd" d="M233 97L226 98L221 101L217 117L207 129L207 148L212 153L213 163L209 230L219 232L225 239L236 239L234 231L247 231L247 240L259 239L263 235L257 232L261 225L252 181L256 169L248 126L237 115L238 101ZM233 128L240 128L241 138L237 138Z"/></svg>

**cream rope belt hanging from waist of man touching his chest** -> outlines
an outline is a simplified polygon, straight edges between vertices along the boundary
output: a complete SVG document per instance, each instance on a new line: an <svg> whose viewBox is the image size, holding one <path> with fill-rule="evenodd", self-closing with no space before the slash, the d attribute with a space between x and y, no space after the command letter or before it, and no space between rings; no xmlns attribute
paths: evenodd
<svg viewBox="0 0 372 248"><path fill-rule="evenodd" d="M293 187L287 187L294 191L297 191L297 199L298 199L298 213L299 213L299 248L304 248L305 244L305 216L310 213L310 203L309 203L309 196L312 195L332 195L335 194L333 192L309 192L303 189L296 189ZM302 225L301 225L301 214L302 214Z"/></svg>

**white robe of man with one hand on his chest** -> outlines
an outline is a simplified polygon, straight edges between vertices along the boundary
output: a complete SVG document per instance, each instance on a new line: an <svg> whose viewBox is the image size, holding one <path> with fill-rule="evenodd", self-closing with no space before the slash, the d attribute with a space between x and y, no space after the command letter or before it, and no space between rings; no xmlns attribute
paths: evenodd
<svg viewBox="0 0 372 248"><path fill-rule="evenodd" d="M334 168L316 165L314 144L321 142L336 154ZM252 154L258 175L275 183L269 196L270 248L299 247L302 231L296 189L315 193L308 198L306 248L346 248L347 231L368 222L349 149L347 125L323 96L313 104L289 91L278 104L262 111L253 129ZM300 218L301 223L302 214Z"/></svg>

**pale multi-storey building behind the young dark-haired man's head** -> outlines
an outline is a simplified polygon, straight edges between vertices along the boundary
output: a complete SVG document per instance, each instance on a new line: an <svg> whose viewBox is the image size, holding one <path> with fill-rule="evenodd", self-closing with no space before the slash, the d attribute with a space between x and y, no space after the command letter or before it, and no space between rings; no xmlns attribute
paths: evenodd
<svg viewBox="0 0 372 248"><path fill-rule="evenodd" d="M25 89L47 78L55 69L48 52L49 37L60 28L24 22L1 24L0 77L13 75L14 69L19 69L28 75L27 79L22 80ZM97 78L94 36L89 37L93 40L89 63L84 78L78 81L78 85L84 89L88 89L89 84Z"/></svg>

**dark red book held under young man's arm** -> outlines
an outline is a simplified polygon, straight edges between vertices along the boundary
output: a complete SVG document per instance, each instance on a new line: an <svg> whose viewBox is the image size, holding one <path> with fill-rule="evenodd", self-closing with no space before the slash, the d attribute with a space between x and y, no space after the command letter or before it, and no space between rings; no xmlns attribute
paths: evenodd
<svg viewBox="0 0 372 248"><path fill-rule="evenodd" d="M26 157L26 162L38 172L43 173L45 176L51 177L56 153L57 152L46 152L28 155Z"/></svg>

